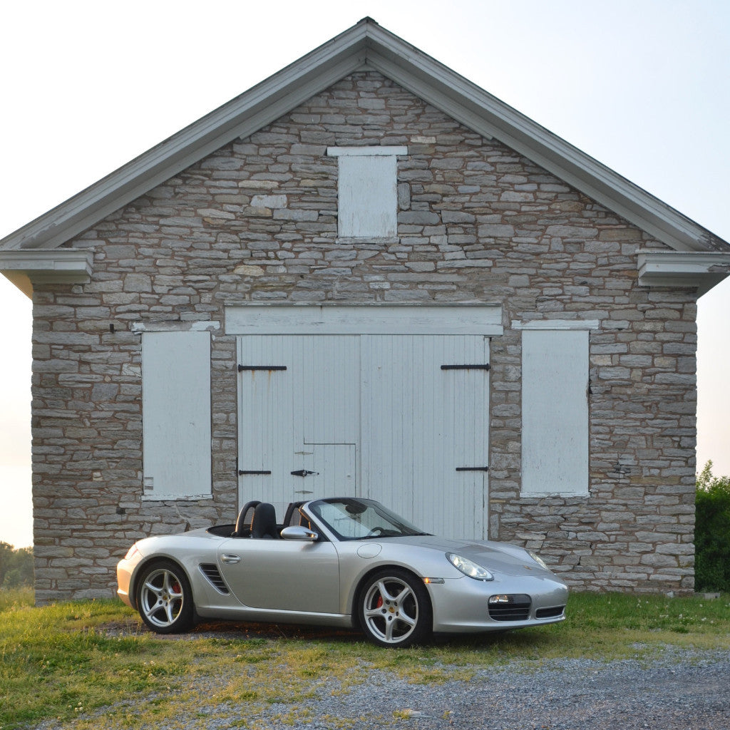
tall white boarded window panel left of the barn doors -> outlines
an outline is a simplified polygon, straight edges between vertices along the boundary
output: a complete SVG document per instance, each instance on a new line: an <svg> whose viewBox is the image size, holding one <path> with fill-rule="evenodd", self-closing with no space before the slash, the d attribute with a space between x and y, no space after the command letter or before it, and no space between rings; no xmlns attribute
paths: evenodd
<svg viewBox="0 0 730 730"><path fill-rule="evenodd" d="M142 334L145 499L210 496L210 333Z"/></svg>

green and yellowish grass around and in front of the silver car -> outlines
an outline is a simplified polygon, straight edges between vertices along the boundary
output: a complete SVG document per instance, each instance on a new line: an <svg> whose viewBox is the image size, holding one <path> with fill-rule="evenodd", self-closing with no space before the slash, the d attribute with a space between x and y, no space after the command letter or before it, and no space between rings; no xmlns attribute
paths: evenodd
<svg viewBox="0 0 730 730"><path fill-rule="evenodd" d="M358 634L291 627L276 639L227 638L241 628L235 624L213 638L162 639L142 631L119 602L31 602L31 591L0 591L0 730L52 719L75 730L204 729L220 706L244 706L236 713L241 727L256 727L257 713L272 707L280 721L296 723L307 721L307 704L332 677L340 683L327 691L346 695L370 669L435 684L507 664L529 671L564 658L649 660L667 647L730 650L728 595L574 593L563 623L407 650L379 649ZM122 635L107 631L120 624ZM123 702L132 704L125 710ZM356 719L334 718L332 726L347 728Z"/></svg>

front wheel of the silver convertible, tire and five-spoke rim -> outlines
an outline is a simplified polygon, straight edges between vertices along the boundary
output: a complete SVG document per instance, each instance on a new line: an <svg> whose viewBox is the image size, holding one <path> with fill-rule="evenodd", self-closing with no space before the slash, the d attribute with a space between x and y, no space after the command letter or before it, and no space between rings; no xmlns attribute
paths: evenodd
<svg viewBox="0 0 730 730"><path fill-rule="evenodd" d="M418 577L400 568L369 576L358 591L357 610L366 637L379 646L406 647L431 636L429 593Z"/></svg>

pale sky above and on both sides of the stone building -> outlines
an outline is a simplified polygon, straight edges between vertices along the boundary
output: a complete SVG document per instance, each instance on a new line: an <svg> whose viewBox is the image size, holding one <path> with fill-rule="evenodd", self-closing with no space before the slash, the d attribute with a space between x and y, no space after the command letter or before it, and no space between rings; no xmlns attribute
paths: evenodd
<svg viewBox="0 0 730 730"><path fill-rule="evenodd" d="M364 16L730 241L727 0L0 9L0 237ZM698 448L730 474L730 280L699 303ZM32 542L31 307L0 277L0 540Z"/></svg>

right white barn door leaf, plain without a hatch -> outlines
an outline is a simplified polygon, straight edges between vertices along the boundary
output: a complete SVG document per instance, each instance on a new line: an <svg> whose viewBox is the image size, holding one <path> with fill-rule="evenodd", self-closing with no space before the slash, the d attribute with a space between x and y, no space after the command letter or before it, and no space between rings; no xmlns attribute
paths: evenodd
<svg viewBox="0 0 730 730"><path fill-rule="evenodd" d="M364 493L426 531L486 537L488 339L363 340Z"/></svg>

